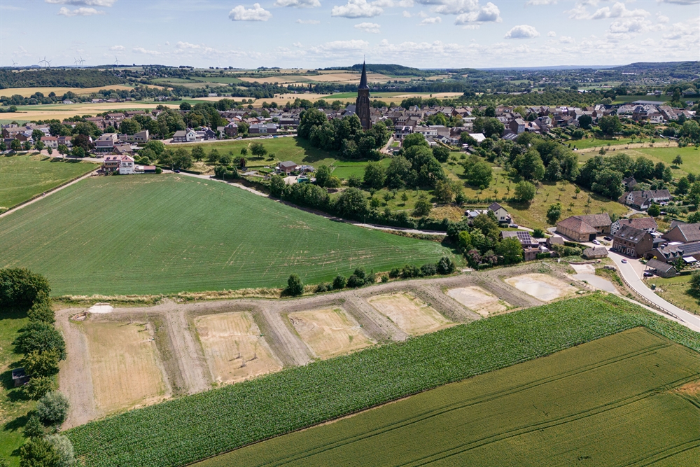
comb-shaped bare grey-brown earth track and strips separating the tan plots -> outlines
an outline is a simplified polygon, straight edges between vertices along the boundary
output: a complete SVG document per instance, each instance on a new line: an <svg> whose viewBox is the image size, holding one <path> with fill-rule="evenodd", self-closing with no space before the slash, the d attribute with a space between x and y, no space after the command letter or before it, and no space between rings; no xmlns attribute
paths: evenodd
<svg viewBox="0 0 700 467"><path fill-rule="evenodd" d="M563 266L563 265L562 265ZM538 269L539 268L539 269ZM549 273L565 277L560 267L542 270L542 266L521 265L489 272L470 272L451 277L394 281L387 284L346 290L338 293L311 295L290 300L237 299L195 303L162 302L151 307L115 308L109 314L90 315L88 319L106 321L148 321L155 328L155 343L162 362L163 378L172 388L173 396L193 394L210 389L213 382L197 337L193 320L202 314L247 311L253 316L260 334L274 356L287 368L306 365L314 356L289 322L288 314L314 309L342 307L361 326L371 340L382 342L401 341L409 335L395 323L370 305L367 300L376 295L409 292L426 302L450 321L468 323L482 319L445 291L448 288L480 286L515 308L542 305L530 295L505 284L504 277L528 272ZM570 279L568 279L570 281ZM71 412L64 428L77 426L92 419L104 417L94 403L94 388L90 373L85 335L78 323L69 317L84 312L85 308L62 309L57 312L57 323L66 337L69 358L62 363L60 386L71 400Z"/></svg>

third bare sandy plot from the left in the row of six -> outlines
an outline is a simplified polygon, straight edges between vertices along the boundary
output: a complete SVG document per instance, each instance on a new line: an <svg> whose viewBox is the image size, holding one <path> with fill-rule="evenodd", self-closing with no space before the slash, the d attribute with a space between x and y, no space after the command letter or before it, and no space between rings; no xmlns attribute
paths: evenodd
<svg viewBox="0 0 700 467"><path fill-rule="evenodd" d="M339 308L294 312L288 319L317 358L349 354L374 344L358 323Z"/></svg>

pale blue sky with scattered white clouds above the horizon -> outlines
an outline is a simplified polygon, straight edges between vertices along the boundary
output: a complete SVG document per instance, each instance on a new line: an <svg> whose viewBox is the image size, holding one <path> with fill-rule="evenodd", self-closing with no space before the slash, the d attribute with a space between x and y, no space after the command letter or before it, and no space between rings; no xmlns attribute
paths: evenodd
<svg viewBox="0 0 700 467"><path fill-rule="evenodd" d="M0 0L0 65L700 60L700 0Z"/></svg>

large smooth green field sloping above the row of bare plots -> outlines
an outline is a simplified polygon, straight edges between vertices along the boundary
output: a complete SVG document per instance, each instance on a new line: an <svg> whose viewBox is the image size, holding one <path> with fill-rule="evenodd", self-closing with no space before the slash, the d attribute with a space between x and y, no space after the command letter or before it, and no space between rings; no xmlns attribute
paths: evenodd
<svg viewBox="0 0 700 467"><path fill-rule="evenodd" d="M218 181L93 177L3 218L0 267L29 267L55 295L286 286L435 263L451 252L330 221Z"/></svg>

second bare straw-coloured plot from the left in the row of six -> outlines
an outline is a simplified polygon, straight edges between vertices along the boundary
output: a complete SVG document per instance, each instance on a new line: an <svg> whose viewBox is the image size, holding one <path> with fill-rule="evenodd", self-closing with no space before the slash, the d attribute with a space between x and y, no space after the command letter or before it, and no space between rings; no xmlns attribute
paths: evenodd
<svg viewBox="0 0 700 467"><path fill-rule="evenodd" d="M235 383L282 369L248 312L197 316L195 328L214 382Z"/></svg>

